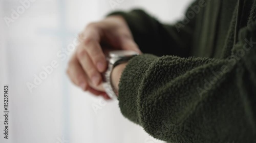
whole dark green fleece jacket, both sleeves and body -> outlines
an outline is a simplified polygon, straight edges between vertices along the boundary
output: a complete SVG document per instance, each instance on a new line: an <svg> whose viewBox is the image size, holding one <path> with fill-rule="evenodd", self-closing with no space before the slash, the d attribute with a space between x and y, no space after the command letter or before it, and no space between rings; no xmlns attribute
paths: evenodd
<svg viewBox="0 0 256 143"><path fill-rule="evenodd" d="M116 14L144 53L121 75L124 117L167 142L256 142L256 1L196 1L172 25Z"/></svg>

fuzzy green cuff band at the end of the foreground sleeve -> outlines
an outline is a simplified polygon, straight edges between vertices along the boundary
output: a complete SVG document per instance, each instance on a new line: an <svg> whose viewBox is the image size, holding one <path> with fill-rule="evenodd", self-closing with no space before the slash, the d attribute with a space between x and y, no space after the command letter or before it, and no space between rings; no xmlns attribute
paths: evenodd
<svg viewBox="0 0 256 143"><path fill-rule="evenodd" d="M132 58L122 72L119 82L119 107L124 117L136 124L138 118L138 97L143 75L158 57L152 54L142 54Z"/></svg>

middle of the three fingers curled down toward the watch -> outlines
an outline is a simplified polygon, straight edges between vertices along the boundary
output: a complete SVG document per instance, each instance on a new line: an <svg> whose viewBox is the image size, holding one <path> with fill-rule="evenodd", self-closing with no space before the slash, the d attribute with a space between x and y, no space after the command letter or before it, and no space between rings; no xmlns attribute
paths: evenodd
<svg viewBox="0 0 256 143"><path fill-rule="evenodd" d="M86 72L92 83L97 86L102 81L101 75L92 63L86 49L81 45L78 47L77 57L82 69Z"/></svg>

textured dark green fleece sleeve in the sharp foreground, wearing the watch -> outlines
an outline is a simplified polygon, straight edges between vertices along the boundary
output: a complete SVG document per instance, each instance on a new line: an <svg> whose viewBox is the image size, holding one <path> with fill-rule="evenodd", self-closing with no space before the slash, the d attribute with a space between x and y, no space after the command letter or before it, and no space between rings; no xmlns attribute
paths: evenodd
<svg viewBox="0 0 256 143"><path fill-rule="evenodd" d="M118 100L127 119L164 141L255 142L256 22L228 59L136 56Z"/></svg>

